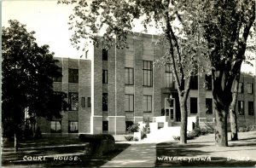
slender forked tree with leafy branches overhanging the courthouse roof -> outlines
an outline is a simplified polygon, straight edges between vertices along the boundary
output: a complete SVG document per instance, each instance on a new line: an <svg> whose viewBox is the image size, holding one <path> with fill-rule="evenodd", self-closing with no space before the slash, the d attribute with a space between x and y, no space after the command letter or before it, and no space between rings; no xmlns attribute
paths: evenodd
<svg viewBox="0 0 256 168"><path fill-rule="evenodd" d="M60 0L73 5L70 15L71 41L78 49L84 39L92 39L96 46L127 47L126 38L133 35L135 20L141 20L147 30L154 25L159 30L160 45L166 45L166 55L158 62L171 64L177 86L181 111L180 141L186 143L187 99L191 76L203 70L207 56L207 43L202 39L201 27L191 14L183 10L183 3L170 0ZM179 14L179 10L181 13ZM182 26L176 26L176 22ZM84 46L82 46L84 47ZM205 59L207 60L207 59ZM203 63L202 63L203 62ZM201 64L201 65L200 65Z"/></svg>

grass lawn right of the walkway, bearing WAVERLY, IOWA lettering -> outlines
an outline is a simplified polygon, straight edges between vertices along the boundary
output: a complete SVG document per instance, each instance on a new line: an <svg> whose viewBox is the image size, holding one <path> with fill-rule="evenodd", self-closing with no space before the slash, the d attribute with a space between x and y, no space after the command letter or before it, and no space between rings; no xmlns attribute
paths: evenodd
<svg viewBox="0 0 256 168"><path fill-rule="evenodd" d="M155 166L255 166L256 131L240 132L239 139L229 141L229 147L216 147L213 134L199 136L187 144L159 143Z"/></svg>

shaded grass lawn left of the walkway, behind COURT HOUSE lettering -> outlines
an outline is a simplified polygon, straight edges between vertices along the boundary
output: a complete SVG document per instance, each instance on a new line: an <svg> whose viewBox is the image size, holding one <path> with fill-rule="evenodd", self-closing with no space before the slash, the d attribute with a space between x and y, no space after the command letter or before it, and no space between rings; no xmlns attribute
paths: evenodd
<svg viewBox="0 0 256 168"><path fill-rule="evenodd" d="M129 144L116 144L116 150L99 158L84 156L84 142L78 137L44 137L20 142L15 153L13 141L3 141L3 166L17 167L99 167L113 159ZM36 160L34 160L36 159ZM67 160L64 160L67 159Z"/></svg>

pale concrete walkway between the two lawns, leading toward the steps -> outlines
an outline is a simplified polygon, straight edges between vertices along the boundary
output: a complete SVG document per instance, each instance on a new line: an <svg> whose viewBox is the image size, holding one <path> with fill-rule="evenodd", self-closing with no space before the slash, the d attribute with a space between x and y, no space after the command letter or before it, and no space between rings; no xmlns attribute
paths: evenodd
<svg viewBox="0 0 256 168"><path fill-rule="evenodd" d="M154 167L155 143L131 144L102 167Z"/></svg>

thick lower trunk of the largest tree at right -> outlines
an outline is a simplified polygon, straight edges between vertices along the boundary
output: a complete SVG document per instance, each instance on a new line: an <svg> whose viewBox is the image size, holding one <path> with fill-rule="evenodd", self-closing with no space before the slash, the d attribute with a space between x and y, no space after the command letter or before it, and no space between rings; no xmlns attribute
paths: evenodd
<svg viewBox="0 0 256 168"><path fill-rule="evenodd" d="M216 113L216 130L215 130L215 144L218 147L228 146L228 134L227 134L227 112L228 108L224 107L214 100L215 113Z"/></svg>

